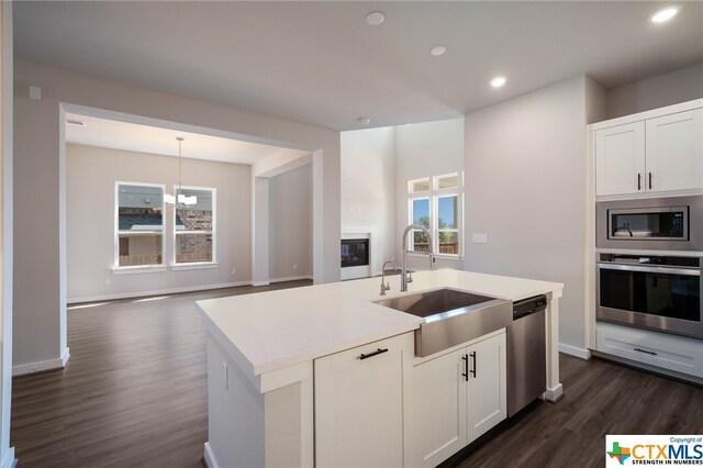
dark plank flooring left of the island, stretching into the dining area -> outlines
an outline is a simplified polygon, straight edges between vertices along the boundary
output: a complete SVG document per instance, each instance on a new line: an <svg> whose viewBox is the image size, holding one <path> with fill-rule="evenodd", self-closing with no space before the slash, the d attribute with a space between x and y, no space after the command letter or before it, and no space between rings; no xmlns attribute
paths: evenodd
<svg viewBox="0 0 703 468"><path fill-rule="evenodd" d="M63 370L12 381L20 467L198 467L208 437L200 299L308 286L228 288L69 309Z"/></svg>

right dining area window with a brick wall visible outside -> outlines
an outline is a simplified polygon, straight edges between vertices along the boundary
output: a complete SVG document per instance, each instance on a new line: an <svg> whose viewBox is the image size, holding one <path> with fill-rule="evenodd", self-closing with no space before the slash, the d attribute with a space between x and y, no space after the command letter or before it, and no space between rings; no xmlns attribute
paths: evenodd
<svg viewBox="0 0 703 468"><path fill-rule="evenodd" d="M196 197L194 204L177 203L174 211L174 264L214 261L215 189L183 187L176 197Z"/></svg>

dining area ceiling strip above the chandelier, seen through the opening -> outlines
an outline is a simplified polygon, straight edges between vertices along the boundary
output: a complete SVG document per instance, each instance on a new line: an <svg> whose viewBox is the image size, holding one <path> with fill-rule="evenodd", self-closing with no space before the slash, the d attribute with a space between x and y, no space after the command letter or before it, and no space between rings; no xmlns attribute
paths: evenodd
<svg viewBox="0 0 703 468"><path fill-rule="evenodd" d="M66 142L79 145L178 156L176 137L181 136L186 138L182 143L182 156L192 159L255 164L267 157L299 158L309 154L201 133L66 113L67 121L72 119L83 122L85 125L66 123Z"/></svg>

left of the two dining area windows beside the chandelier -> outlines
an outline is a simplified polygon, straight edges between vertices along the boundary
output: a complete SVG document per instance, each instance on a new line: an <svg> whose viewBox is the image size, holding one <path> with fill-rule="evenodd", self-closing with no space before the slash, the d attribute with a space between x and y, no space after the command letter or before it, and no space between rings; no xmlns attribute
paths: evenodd
<svg viewBox="0 0 703 468"><path fill-rule="evenodd" d="M163 265L164 187L116 183L115 265Z"/></svg>

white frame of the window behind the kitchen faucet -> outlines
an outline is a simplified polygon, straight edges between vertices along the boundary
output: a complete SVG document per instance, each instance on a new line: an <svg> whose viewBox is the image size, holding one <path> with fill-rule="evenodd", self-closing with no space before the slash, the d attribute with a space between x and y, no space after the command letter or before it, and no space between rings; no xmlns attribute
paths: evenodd
<svg viewBox="0 0 703 468"><path fill-rule="evenodd" d="M456 176L457 177L457 186L451 188L440 189L439 179ZM414 185L416 182L422 182L429 179L429 190L425 191L412 191ZM456 197L456 229L439 229L439 199L447 197ZM439 174L432 177L421 177L416 179L408 180L408 220L409 223L414 222L414 210L413 202L415 200L428 199L429 208L429 233L432 235L432 243L435 247L435 256L438 258L446 259L455 259L460 260L464 258L464 171L456 172L447 172ZM409 243L410 249L414 249L414 233L415 230L412 230L409 234L411 236L411 241ZM440 232L456 232L457 233L457 253L456 254L440 254L439 253L439 233ZM412 254L410 255L422 255L422 254Z"/></svg>

